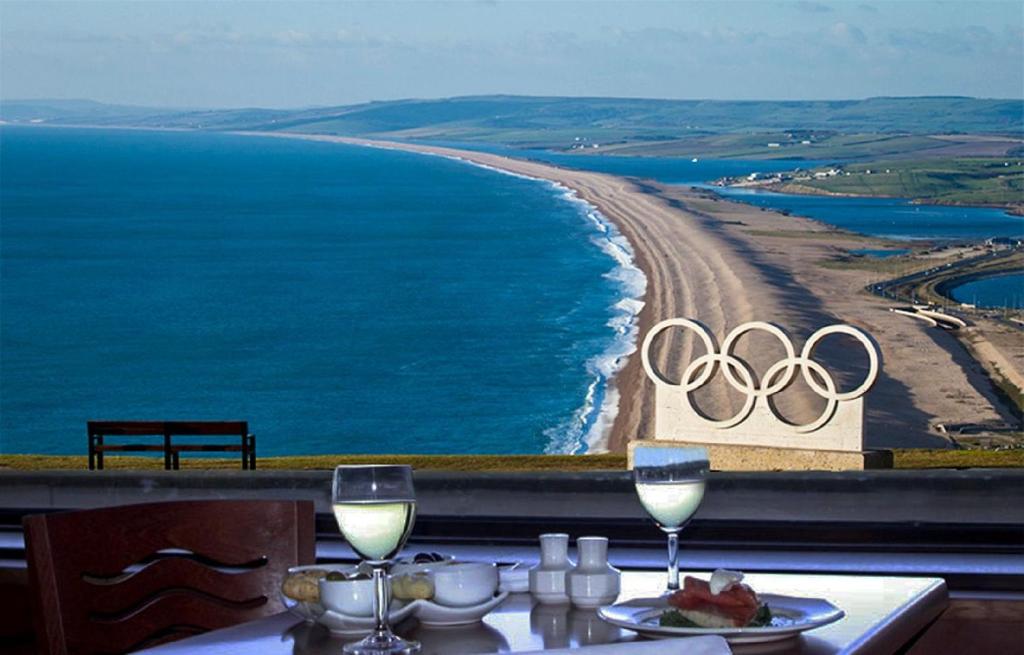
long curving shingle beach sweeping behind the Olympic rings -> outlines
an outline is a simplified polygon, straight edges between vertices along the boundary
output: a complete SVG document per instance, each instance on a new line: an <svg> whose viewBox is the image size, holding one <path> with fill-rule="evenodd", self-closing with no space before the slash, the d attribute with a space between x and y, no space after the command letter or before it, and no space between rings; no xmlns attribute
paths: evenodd
<svg viewBox="0 0 1024 655"><path fill-rule="evenodd" d="M636 264L647 277L644 306L638 315L641 339L656 322L676 316L698 318L719 340L741 322L778 322L795 336L798 347L826 323L849 322L867 330L881 344L885 362L878 385L868 394L868 446L942 447L946 441L929 429L937 421L1006 418L999 413L987 379L953 337L893 314L886 301L860 293L866 281L864 271L818 265L841 252L842 241L849 235L815 221L763 212L683 187L487 152L347 137L255 134L451 157L574 190L629 239ZM864 241L870 239L855 237L858 246ZM778 356L760 347L762 343L767 342L757 342L760 350L739 349L759 373ZM667 345L672 348L671 361L676 361L676 355L688 357L685 343ZM842 349L837 352L840 359L847 356ZM671 377L678 369L669 355L666 349L659 359ZM629 357L613 385L620 406L608 449L617 452L631 439L654 436L653 386L637 355ZM719 416L730 412L737 398L723 387L712 391L707 405L700 402ZM816 414L816 399L799 390L780 404L797 421Z"/></svg>

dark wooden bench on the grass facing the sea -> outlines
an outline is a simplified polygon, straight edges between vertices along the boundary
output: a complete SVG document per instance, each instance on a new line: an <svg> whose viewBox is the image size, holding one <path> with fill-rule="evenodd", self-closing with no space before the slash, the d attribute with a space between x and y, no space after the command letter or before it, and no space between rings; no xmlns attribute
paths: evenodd
<svg viewBox="0 0 1024 655"><path fill-rule="evenodd" d="M90 421L89 470L103 468L104 452L163 452L164 469L178 470L182 452L241 452L242 468L256 468L256 437L245 421ZM104 443L103 437L160 436L160 443ZM239 443L174 443L173 437L234 436Z"/></svg>

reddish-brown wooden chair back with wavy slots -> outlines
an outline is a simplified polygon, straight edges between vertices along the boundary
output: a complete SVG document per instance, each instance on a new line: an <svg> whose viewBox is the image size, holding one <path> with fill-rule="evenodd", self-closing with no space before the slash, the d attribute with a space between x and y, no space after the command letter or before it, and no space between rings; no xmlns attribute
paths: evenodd
<svg viewBox="0 0 1024 655"><path fill-rule="evenodd" d="M315 559L308 500L190 500L24 520L39 652L125 653L282 611Z"/></svg>

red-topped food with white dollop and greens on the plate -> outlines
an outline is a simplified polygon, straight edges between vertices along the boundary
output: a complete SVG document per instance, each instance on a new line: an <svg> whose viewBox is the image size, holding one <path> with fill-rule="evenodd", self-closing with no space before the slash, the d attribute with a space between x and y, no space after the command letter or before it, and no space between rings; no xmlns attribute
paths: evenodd
<svg viewBox="0 0 1024 655"><path fill-rule="evenodd" d="M771 610L742 583L743 574L719 569L711 580L686 576L683 588L669 597L658 624L667 627L763 627Z"/></svg>

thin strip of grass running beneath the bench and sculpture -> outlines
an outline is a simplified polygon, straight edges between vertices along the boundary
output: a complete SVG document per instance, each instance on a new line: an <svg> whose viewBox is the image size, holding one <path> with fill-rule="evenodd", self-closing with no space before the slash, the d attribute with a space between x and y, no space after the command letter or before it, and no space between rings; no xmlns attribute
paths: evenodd
<svg viewBox="0 0 1024 655"><path fill-rule="evenodd" d="M896 469L1024 468L1024 449L1020 450L932 450L898 449L893 451ZM262 457L261 470L325 471L341 464L408 464L434 471L607 471L626 468L626 455L295 455ZM84 470L84 455L0 454L0 469L18 471ZM108 456L105 468L112 470L160 470L163 460L142 456ZM228 458L187 458L186 470L238 470L239 461Z"/></svg>

